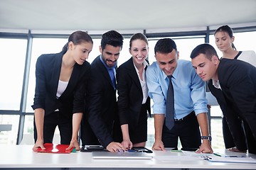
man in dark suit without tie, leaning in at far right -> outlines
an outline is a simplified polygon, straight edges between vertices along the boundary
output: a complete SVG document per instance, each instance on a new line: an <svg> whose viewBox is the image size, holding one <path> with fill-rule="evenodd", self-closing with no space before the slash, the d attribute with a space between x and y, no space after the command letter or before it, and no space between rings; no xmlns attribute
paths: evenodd
<svg viewBox="0 0 256 170"><path fill-rule="evenodd" d="M191 52L197 74L208 81L213 79L215 88L223 91L227 107L245 122L248 152L256 154L256 67L240 60L218 59L209 44L198 45Z"/></svg>

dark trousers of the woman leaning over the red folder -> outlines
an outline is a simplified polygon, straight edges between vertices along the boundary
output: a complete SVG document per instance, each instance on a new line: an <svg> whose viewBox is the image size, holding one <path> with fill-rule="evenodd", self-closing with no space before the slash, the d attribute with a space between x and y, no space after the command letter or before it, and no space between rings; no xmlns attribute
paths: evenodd
<svg viewBox="0 0 256 170"><path fill-rule="evenodd" d="M60 130L60 144L69 145L72 138L72 116L62 115L55 111L44 117L43 142L53 143L55 128ZM34 139L37 140L36 123L34 120Z"/></svg>

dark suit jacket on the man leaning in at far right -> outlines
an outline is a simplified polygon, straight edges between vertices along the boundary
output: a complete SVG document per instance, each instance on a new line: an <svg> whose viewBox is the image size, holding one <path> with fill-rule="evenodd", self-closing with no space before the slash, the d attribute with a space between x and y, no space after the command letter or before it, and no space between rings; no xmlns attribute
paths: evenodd
<svg viewBox="0 0 256 170"><path fill-rule="evenodd" d="M218 65L218 79L228 106L238 111L256 139L256 67L223 58Z"/></svg>

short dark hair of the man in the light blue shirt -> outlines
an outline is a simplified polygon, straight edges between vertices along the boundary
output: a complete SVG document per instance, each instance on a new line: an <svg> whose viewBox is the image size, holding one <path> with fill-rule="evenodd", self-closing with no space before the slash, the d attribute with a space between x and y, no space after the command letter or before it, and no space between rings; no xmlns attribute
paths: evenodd
<svg viewBox="0 0 256 170"><path fill-rule="evenodd" d="M164 39L158 40L154 47L155 55L156 55L156 52L159 52L162 54L168 54L173 50L176 50L177 52L176 43L174 42L174 40L171 40L171 38L164 38Z"/></svg>

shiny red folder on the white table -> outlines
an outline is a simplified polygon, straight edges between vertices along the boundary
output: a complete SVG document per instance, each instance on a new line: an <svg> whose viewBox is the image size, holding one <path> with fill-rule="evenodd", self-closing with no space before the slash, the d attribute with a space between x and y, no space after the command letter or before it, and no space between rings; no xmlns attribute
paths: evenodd
<svg viewBox="0 0 256 170"><path fill-rule="evenodd" d="M38 147L36 152L42 152L42 153L55 153L55 154L70 154L72 152L73 148L69 150L66 150L69 145L62 145L62 144L52 144L52 143L45 143L43 145L46 147L46 149L41 149L41 147Z"/></svg>

